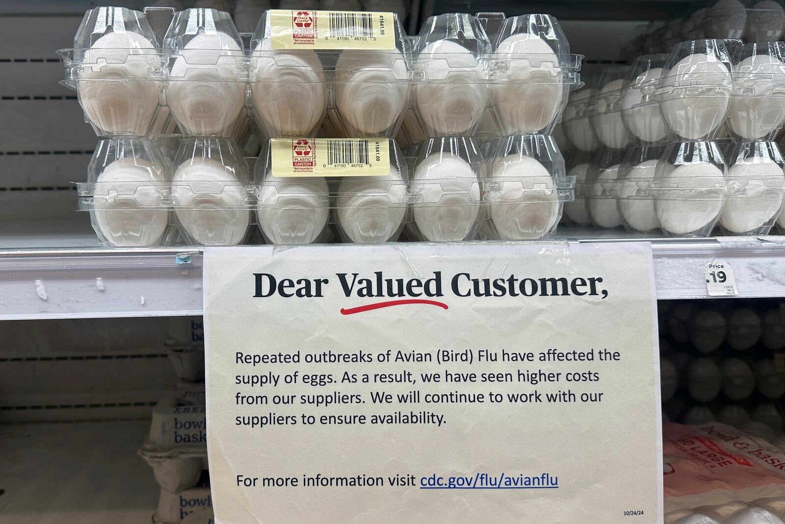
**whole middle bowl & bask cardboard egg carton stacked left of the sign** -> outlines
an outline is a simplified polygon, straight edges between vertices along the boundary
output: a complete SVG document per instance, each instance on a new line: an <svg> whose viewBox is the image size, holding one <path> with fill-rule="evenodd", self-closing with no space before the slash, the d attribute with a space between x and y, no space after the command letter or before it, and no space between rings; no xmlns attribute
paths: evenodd
<svg viewBox="0 0 785 524"><path fill-rule="evenodd" d="M162 489L180 493L199 482L207 460L204 383L173 390L155 405L139 454Z"/></svg>

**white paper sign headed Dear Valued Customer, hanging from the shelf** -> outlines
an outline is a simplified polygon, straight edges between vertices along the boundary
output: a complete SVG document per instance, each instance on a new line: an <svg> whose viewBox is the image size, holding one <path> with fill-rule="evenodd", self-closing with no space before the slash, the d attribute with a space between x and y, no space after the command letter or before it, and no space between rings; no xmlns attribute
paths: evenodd
<svg viewBox="0 0 785 524"><path fill-rule="evenodd" d="M206 247L217 522L663 522L651 245Z"/></svg>

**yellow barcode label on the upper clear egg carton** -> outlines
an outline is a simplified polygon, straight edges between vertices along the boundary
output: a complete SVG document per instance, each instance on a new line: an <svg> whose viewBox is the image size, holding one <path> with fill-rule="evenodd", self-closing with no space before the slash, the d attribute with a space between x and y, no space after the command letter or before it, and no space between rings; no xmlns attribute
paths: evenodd
<svg viewBox="0 0 785 524"><path fill-rule="evenodd" d="M270 11L272 49L395 49L392 13Z"/></svg>

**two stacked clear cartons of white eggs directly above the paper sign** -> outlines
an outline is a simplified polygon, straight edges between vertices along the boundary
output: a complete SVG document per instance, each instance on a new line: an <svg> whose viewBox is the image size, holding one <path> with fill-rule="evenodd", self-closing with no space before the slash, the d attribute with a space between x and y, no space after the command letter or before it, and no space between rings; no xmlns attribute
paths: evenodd
<svg viewBox="0 0 785 524"><path fill-rule="evenodd" d="M315 17L345 38L287 44ZM495 24L491 44L465 13L408 38L391 13L270 10L246 49L228 13L194 8L159 48L143 13L91 9L64 63L109 138L79 208L113 247L547 236L573 192L550 133L581 57L550 16ZM163 109L184 136L149 138ZM247 115L272 137L250 163ZM478 144L483 117L498 137ZM407 118L429 136L411 163L393 139Z"/></svg>

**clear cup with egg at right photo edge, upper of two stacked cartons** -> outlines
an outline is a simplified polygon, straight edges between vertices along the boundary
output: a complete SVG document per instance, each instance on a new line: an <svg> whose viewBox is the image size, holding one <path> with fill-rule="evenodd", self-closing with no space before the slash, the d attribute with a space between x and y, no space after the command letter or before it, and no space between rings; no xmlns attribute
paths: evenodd
<svg viewBox="0 0 785 524"><path fill-rule="evenodd" d="M773 140L785 123L785 44L752 43L738 51L728 128L741 141Z"/></svg>

